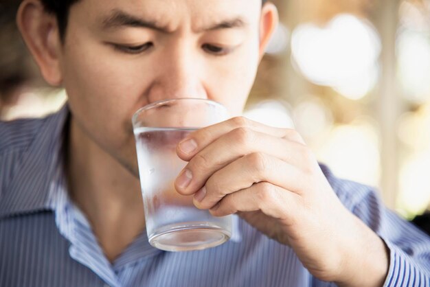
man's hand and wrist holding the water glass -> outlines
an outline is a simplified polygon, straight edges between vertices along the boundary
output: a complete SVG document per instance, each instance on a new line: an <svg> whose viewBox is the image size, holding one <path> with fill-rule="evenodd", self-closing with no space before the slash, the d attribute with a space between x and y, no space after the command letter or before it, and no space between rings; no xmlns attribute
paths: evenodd
<svg viewBox="0 0 430 287"><path fill-rule="evenodd" d="M179 143L175 186L214 216L238 214L294 249L308 271L342 286L382 286L385 244L339 201L302 137L245 117Z"/></svg>

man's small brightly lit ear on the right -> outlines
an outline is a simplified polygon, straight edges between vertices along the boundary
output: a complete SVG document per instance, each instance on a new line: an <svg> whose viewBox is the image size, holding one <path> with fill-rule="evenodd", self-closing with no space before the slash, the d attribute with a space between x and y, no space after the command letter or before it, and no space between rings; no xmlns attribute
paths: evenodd
<svg viewBox="0 0 430 287"><path fill-rule="evenodd" d="M278 10L273 3L264 3L260 17L260 60L264 56L270 38L278 25Z"/></svg>

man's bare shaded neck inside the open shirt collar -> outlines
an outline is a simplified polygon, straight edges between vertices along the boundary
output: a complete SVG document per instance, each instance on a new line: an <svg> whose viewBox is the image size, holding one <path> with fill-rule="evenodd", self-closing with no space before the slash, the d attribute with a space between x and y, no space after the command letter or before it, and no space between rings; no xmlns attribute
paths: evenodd
<svg viewBox="0 0 430 287"><path fill-rule="evenodd" d="M139 179L90 139L73 117L67 158L71 198L113 262L145 227Z"/></svg>

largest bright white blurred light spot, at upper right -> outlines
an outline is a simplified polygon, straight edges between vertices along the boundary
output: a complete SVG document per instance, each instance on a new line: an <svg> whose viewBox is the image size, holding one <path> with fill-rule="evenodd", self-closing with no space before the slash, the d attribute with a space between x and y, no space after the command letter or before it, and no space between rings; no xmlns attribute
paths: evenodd
<svg viewBox="0 0 430 287"><path fill-rule="evenodd" d="M339 14L324 27L299 25L291 36L292 57L315 84L333 87L358 100L378 78L379 36L368 21Z"/></svg>

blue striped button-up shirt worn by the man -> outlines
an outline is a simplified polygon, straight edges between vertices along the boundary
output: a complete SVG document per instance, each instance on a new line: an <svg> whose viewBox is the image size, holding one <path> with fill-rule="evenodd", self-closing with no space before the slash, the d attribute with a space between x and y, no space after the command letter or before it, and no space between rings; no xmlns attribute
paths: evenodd
<svg viewBox="0 0 430 287"><path fill-rule="evenodd" d="M146 232L111 263L67 193L67 105L43 119L0 122L0 286L335 286L295 253L235 218L234 236L204 251L166 252ZM430 287L430 238L383 207L372 188L328 181L389 248L384 286Z"/></svg>

